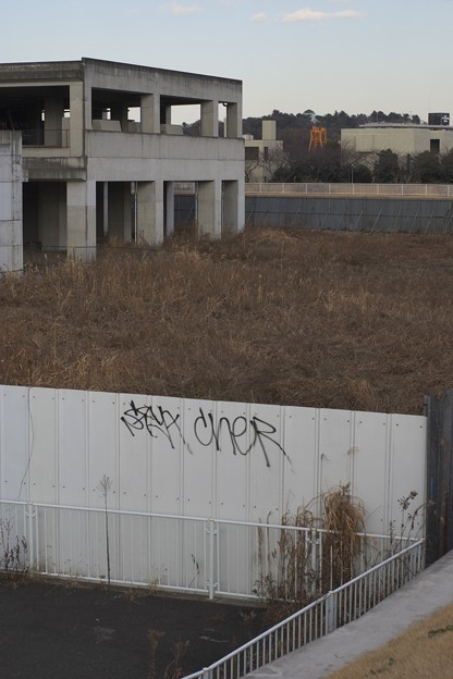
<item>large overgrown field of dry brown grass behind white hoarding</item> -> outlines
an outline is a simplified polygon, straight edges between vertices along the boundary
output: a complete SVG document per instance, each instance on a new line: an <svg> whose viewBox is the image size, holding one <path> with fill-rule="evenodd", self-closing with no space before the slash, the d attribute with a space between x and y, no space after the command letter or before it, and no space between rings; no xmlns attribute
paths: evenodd
<svg viewBox="0 0 453 679"><path fill-rule="evenodd" d="M451 236L247 230L0 281L0 383L420 413L453 386Z"/></svg>

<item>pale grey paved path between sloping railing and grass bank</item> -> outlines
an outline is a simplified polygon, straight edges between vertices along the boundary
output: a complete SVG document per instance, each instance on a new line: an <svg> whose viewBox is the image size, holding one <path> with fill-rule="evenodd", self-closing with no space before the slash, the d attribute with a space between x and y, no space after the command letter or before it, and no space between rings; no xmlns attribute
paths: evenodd
<svg viewBox="0 0 453 679"><path fill-rule="evenodd" d="M321 679L453 603L453 552L355 622L252 672L254 679Z"/></svg>

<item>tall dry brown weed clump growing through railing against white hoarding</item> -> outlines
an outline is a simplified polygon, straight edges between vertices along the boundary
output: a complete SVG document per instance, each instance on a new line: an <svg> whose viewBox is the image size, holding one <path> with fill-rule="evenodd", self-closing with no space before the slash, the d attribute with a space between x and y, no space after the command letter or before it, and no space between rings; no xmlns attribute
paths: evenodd
<svg viewBox="0 0 453 679"><path fill-rule="evenodd" d="M281 524L274 546L269 527L258 535L257 591L271 621L347 582L365 560L365 509L348 483L314 498L294 516L285 514Z"/></svg>

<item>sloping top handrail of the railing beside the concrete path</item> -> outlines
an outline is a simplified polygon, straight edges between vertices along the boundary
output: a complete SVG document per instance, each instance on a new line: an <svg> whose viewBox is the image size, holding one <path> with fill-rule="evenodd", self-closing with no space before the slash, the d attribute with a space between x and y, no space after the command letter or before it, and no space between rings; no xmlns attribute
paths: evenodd
<svg viewBox="0 0 453 679"><path fill-rule="evenodd" d="M203 677L206 672L212 671L213 669L216 669L217 667L220 667L224 663L228 663L229 661L231 661L235 656L241 655L241 653L244 653L244 651L247 651L252 646L258 644L260 641L262 641L267 637L270 637L271 634L273 634L274 632L280 630L282 627L284 627L285 625L289 625L290 622L292 622L293 620L297 619L298 617L302 617L304 614L306 614L311 608L315 608L316 606L319 606L322 602L327 601L332 595L339 594L340 592L346 590L347 588L351 588L356 582L358 582L360 580L364 580L365 578L368 578L370 575L372 575L377 570L381 570L381 569L385 568L385 566L388 566L393 560L396 560L397 558L401 558L404 554L406 554L406 553L408 553L411 551L415 551L416 548L420 547L424 544L424 542L425 542L424 540L418 540L416 543L412 544L409 547L406 547L406 548L402 550L401 552L399 552L397 554L394 554L394 555L390 556L389 558L384 559L383 561L380 561L379 564L377 564L372 568L369 568L368 570L366 570L364 573L360 573L359 576L356 576L352 580L348 580L347 582L345 582L344 584L341 584L340 587L335 588L334 590L330 590L329 592L327 592L326 594L323 594L322 596L317 598L315 602L311 602L307 606L304 606L304 608L301 608L299 610L296 610L291 616L287 616L287 618L285 618L284 620L281 620L280 622L277 622L276 625L273 625L271 628L269 628L265 632L261 632L260 634L258 634L257 637L255 637L250 641L247 641L245 644L243 644L242 646L240 646L235 651L232 651L228 655L223 656L222 658L220 658L220 661L217 661L212 665L209 665L209 667L205 667L205 668L203 668L201 670L199 670L197 672L194 672L192 675L187 675L187 676L183 677L183 679L198 679L199 677Z"/></svg>

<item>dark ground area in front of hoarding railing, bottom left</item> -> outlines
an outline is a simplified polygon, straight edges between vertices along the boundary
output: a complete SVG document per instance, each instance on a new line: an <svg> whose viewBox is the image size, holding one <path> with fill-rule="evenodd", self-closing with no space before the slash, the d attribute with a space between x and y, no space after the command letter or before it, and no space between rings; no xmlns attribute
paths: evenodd
<svg viewBox="0 0 453 679"><path fill-rule="evenodd" d="M57 582L1 581L0 610L1 679L176 679L261 631L257 608Z"/></svg>

